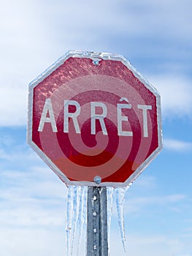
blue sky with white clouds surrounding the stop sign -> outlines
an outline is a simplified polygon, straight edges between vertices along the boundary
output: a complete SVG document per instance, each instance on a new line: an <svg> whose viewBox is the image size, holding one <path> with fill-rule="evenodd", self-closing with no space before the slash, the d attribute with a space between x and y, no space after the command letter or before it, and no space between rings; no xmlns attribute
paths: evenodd
<svg viewBox="0 0 192 256"><path fill-rule="evenodd" d="M160 91L164 150L126 193L126 255L192 255L191 7L1 2L1 255L66 255L66 187L26 144L26 115L28 83L67 50L122 54ZM110 255L123 255L115 209L110 244Z"/></svg>

